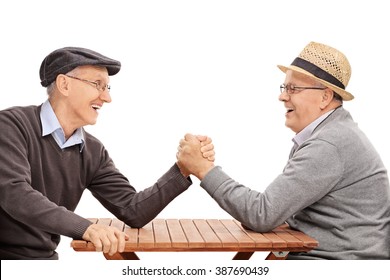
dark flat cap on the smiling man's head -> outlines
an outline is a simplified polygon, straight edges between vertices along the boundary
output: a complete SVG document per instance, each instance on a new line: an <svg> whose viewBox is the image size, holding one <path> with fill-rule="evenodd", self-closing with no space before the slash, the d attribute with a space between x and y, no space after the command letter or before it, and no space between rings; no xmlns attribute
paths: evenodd
<svg viewBox="0 0 390 280"><path fill-rule="evenodd" d="M66 74L82 65L106 67L110 76L117 74L121 69L119 61L100 53L85 48L66 47L53 51L42 61L39 70L41 85L47 87L59 74Z"/></svg>

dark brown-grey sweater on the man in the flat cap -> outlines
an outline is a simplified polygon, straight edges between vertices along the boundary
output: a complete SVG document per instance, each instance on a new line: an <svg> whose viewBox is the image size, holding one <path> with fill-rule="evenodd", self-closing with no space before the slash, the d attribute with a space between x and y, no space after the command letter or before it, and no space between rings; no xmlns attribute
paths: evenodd
<svg viewBox="0 0 390 280"><path fill-rule="evenodd" d="M0 259L56 259L60 235L80 239L91 224L75 214L85 189L129 226L142 227L191 184L176 165L140 192L102 143L61 150L42 137L40 106L0 111Z"/></svg>

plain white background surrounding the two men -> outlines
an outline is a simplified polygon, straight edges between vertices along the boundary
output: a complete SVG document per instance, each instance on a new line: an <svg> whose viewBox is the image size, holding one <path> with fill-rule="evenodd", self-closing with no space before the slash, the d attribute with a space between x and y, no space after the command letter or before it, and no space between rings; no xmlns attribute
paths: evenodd
<svg viewBox="0 0 390 280"><path fill-rule="evenodd" d="M284 74L276 65L289 65L307 43L317 41L348 57L352 78L347 89L355 100L344 107L390 166L385 3L2 1L0 109L46 100L39 67L48 53L65 46L90 48L120 60L122 69L111 77L113 102L86 129L105 144L137 190L168 170L179 140L190 132L209 135L216 163L235 180L262 191L282 171L293 137L278 101ZM193 181L158 217L229 218ZM89 192L76 212L111 217ZM102 258L75 253L69 243L64 237L58 248L64 261ZM217 258L231 257L222 254ZM205 256L191 255L188 261L200 258Z"/></svg>

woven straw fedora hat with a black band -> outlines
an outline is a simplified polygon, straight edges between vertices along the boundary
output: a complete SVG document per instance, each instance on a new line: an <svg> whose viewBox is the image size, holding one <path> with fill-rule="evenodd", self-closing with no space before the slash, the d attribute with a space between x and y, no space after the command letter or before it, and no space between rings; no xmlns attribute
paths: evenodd
<svg viewBox="0 0 390 280"><path fill-rule="evenodd" d="M278 67L284 73L293 70L314 78L338 93L343 100L354 98L345 90L351 78L351 65L343 53L332 47L310 42L290 66Z"/></svg>

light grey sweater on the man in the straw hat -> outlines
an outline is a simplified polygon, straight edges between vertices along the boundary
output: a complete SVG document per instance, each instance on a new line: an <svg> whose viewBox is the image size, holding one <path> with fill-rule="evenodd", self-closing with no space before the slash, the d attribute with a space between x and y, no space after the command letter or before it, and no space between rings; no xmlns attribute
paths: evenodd
<svg viewBox="0 0 390 280"><path fill-rule="evenodd" d="M259 171L261 176L261 170ZM297 259L389 259L386 168L342 107L312 133L263 193L212 169L201 186L243 225L259 232L287 222L319 241Z"/></svg>

